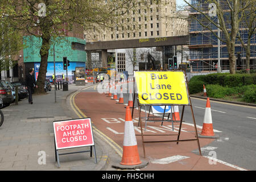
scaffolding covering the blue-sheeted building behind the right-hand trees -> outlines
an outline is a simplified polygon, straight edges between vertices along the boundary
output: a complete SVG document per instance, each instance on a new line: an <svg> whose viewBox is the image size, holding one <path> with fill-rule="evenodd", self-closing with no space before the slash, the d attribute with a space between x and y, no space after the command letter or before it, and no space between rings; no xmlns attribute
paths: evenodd
<svg viewBox="0 0 256 182"><path fill-rule="evenodd" d="M225 2L220 1L222 9L227 10L228 7ZM191 0L191 5L197 7L197 9L207 12L208 11L208 3L205 0ZM190 14L191 16L196 16L197 19L202 20L201 23L204 24L202 26L195 18L191 18L189 20L189 49L190 49L190 59L191 61L191 71L195 72L216 72L217 71L217 61L218 61L218 51L217 51L217 37L212 33L216 32L217 27L214 26L213 23L210 23L208 20L204 19L204 15L197 12L196 10L191 8ZM214 22L217 23L217 16L212 18ZM244 26L244 23L241 23L240 27L240 35L243 42L246 43L248 39L247 29ZM231 24L227 22L227 28L231 28ZM210 31L210 30L212 31ZM224 35L220 32L220 36L224 39ZM241 67L237 67L237 69L245 69L245 60L246 60L246 50L242 47L241 42L237 39L235 45L236 53L241 54L242 64ZM256 69L256 37L255 34L251 37L251 55L250 55L250 69ZM226 44L221 42L220 45L220 60L221 60L221 69L228 70L229 69L229 55L228 49L226 48Z"/></svg>

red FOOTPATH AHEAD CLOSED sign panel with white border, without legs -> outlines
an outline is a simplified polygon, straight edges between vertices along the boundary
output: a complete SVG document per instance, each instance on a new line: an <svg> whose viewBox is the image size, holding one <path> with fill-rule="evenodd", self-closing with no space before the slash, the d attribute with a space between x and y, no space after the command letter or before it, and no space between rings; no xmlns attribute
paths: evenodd
<svg viewBox="0 0 256 182"><path fill-rule="evenodd" d="M93 132L90 118L53 122L56 150L93 146Z"/></svg>

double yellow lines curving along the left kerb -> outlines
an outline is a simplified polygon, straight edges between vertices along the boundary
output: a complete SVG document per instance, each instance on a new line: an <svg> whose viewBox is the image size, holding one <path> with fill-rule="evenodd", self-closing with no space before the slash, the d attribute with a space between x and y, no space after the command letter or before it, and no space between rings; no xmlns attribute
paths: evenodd
<svg viewBox="0 0 256 182"><path fill-rule="evenodd" d="M90 88L90 87L88 87ZM85 88L85 89L88 89L88 88ZM83 89L83 90L85 90ZM72 94L71 98L70 98L70 105L73 109L73 111L75 111L75 113L77 114L77 116L79 118L87 118L87 116L82 113L82 111L79 109L79 107L77 107L77 105L75 104L75 97L76 95L79 93L79 91L75 92ZM93 122L92 122L93 123ZM102 133L100 130L96 129L95 126L93 126L93 130L94 130L94 133L96 133L97 135L99 135L102 139L104 139L114 150L115 152L117 152L117 154L119 156L122 156L122 147L120 147L117 143L114 142L114 140L112 140L111 138L109 138L108 136L106 136L104 133Z"/></svg>

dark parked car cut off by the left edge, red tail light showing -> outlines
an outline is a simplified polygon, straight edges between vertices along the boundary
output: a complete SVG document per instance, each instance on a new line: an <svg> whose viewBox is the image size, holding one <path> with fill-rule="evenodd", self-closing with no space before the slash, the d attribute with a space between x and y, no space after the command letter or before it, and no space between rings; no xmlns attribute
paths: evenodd
<svg viewBox="0 0 256 182"><path fill-rule="evenodd" d="M9 106L14 100L11 89L4 80L0 80L0 98L2 98L4 106Z"/></svg>

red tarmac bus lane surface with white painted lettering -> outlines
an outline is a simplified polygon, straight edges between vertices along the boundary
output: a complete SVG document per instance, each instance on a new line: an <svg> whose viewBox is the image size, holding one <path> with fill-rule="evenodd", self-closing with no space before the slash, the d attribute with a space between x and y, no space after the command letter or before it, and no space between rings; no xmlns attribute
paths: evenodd
<svg viewBox="0 0 256 182"><path fill-rule="evenodd" d="M96 92L80 92L75 96L76 106L92 119L93 125L122 148L126 110L125 105L116 103L117 101L110 100L105 94ZM142 117L144 115L145 113L142 112ZM134 118L135 134L141 134L140 127L138 127L139 113L137 109L134 110ZM161 126L161 122L147 122L145 132L144 122L142 124L144 135L177 134L179 130L179 122L174 123L174 131L172 131L171 122L164 122L163 126ZM183 124L181 128L180 139L195 139L194 127ZM197 128L197 131L200 133L201 129ZM136 136L136 139L139 156L143 160L142 138ZM177 136L144 136L144 141L176 139ZM213 140L200 138L200 147L208 145ZM198 150L196 140L179 142L179 144L176 142L144 143L144 146L146 160L150 163L141 170L237 170L237 168L226 166L216 160L194 154L192 151ZM214 151L211 154L214 154Z"/></svg>

